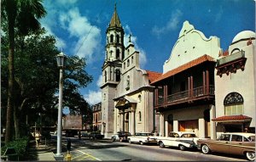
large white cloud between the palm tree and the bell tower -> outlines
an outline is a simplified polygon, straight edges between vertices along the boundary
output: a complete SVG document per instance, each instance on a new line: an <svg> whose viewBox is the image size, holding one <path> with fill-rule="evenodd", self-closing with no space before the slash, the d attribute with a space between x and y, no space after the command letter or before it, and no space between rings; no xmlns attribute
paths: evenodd
<svg viewBox="0 0 256 162"><path fill-rule="evenodd" d="M74 7L75 3L77 0L57 0L54 3L46 1L44 6L50 12L42 20L42 26L50 35L55 36L57 47L63 48L67 54L86 58L87 63L91 64L99 58L97 55L102 49L101 30L80 14L79 8ZM67 39L61 39L60 36Z"/></svg>

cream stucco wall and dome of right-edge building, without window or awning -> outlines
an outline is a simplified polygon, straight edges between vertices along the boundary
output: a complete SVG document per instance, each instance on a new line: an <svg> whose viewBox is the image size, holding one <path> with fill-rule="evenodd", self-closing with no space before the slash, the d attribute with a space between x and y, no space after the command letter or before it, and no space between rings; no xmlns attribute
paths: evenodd
<svg viewBox="0 0 256 162"><path fill-rule="evenodd" d="M224 130L224 127L241 125L242 127L251 127L255 129L255 98L256 98L256 56L255 56L255 33L253 31L241 31L238 33L231 43L228 49L228 55L221 55L218 59L226 59L226 64L232 64L237 70L230 70L222 75L216 75L215 77L215 99L216 99L216 118L222 116L229 116L227 112L225 112L224 99L230 93L238 93L243 98L243 103L239 103L243 105L242 112L237 114L235 111L232 112L231 115L245 115L246 117L252 118L250 121L233 121L227 122L224 120L220 120L217 122L217 133L227 131ZM244 53L244 57L241 56L242 60L246 59L244 67L240 68L239 63L236 63L236 60L232 59L237 54ZM230 60L230 62L229 62ZM234 65L233 65L234 64ZM238 65L236 65L238 64ZM226 66L229 69L230 66ZM215 70L215 74L218 73L218 68ZM236 103L234 103L236 104ZM226 117L227 118L227 117ZM238 126L239 127L239 126ZM229 131L229 130L228 130ZM241 130L243 131L243 130Z"/></svg>

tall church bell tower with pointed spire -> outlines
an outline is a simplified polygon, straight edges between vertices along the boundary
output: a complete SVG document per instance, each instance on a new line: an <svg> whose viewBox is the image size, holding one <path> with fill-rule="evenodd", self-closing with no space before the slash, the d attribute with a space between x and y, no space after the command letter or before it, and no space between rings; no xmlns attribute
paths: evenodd
<svg viewBox="0 0 256 162"><path fill-rule="evenodd" d="M111 137L113 134L113 110L116 87L120 81L122 60L124 59L125 31L117 14L116 4L113 16L106 31L107 42L105 59L102 65L102 134Z"/></svg>

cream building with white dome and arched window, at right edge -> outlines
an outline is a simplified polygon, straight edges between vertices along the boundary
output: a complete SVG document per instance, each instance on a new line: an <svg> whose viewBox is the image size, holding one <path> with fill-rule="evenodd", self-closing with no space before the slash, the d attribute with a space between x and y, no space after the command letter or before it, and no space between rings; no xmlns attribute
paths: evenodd
<svg viewBox="0 0 256 162"><path fill-rule="evenodd" d="M224 131L255 132L256 55L255 32L238 33L227 52L220 54L215 77L217 134Z"/></svg>

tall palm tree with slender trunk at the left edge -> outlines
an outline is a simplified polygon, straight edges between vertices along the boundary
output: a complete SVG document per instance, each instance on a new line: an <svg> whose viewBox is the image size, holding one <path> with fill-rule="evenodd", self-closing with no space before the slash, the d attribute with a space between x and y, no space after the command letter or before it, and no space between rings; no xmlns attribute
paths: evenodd
<svg viewBox="0 0 256 162"><path fill-rule="evenodd" d="M2 0L2 19L6 20L9 36L9 89L6 115L6 134L5 142L12 140L12 121L14 116L15 101L15 31L21 36L26 36L30 31L40 28L38 19L44 17L46 11L42 5L42 0Z"/></svg>

